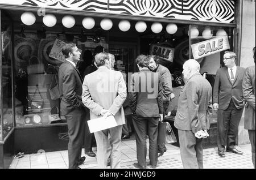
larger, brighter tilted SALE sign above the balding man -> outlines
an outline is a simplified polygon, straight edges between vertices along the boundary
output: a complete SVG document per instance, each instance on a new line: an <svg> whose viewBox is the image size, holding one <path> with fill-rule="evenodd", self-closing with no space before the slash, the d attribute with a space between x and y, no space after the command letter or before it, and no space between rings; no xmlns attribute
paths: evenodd
<svg viewBox="0 0 256 180"><path fill-rule="evenodd" d="M222 52L223 50L229 48L228 36L216 37L191 45L194 59L199 59L211 54Z"/></svg>

